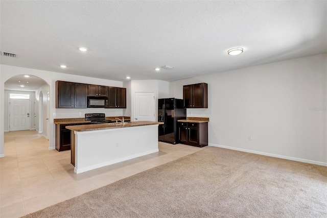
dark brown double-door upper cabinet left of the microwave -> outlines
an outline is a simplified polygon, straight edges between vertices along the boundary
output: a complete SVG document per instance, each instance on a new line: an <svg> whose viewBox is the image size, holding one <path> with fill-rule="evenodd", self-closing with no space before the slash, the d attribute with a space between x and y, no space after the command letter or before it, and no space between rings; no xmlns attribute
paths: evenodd
<svg viewBox="0 0 327 218"><path fill-rule="evenodd" d="M87 108L87 84L56 81L56 108Z"/></svg>

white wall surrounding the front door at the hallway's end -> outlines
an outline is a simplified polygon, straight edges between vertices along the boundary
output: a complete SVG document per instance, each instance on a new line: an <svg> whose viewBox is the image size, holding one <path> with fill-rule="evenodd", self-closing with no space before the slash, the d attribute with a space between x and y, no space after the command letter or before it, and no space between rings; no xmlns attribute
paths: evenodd
<svg viewBox="0 0 327 218"><path fill-rule="evenodd" d="M30 95L30 130L35 129L35 118L34 118L34 113L35 113L35 92L34 91L14 91L14 90L5 90L5 102L4 102L4 131L8 132L9 131L9 102L10 102L10 93L15 93L15 94L29 94Z"/></svg>

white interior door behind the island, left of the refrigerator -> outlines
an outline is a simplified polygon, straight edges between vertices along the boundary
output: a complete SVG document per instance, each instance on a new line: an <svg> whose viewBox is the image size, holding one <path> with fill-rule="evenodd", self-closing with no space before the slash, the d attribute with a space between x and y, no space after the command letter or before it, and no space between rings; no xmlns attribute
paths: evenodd
<svg viewBox="0 0 327 218"><path fill-rule="evenodd" d="M134 121L155 121L154 92L135 92Z"/></svg>

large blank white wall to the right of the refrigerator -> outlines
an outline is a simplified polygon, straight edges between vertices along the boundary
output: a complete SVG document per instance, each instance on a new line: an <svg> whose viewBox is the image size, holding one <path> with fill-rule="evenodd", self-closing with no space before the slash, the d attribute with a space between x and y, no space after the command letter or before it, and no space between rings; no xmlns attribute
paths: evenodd
<svg viewBox="0 0 327 218"><path fill-rule="evenodd" d="M327 165L326 54L253 66L170 83L208 84L211 146ZM252 140L248 140L248 136Z"/></svg>

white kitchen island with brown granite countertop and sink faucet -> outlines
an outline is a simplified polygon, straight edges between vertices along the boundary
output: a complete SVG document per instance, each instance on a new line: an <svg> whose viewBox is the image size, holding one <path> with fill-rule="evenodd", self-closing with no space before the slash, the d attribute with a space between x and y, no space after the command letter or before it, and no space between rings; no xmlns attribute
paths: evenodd
<svg viewBox="0 0 327 218"><path fill-rule="evenodd" d="M76 174L158 152L160 122L67 126Z"/></svg>

